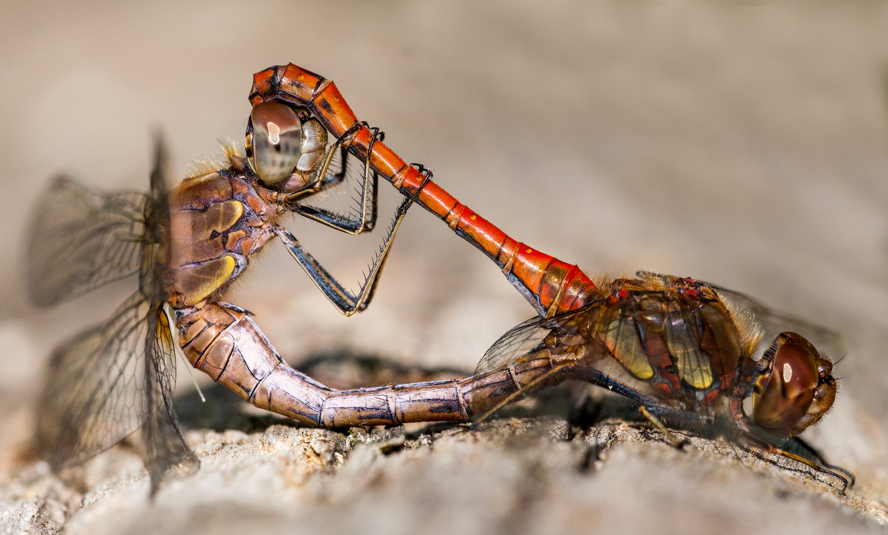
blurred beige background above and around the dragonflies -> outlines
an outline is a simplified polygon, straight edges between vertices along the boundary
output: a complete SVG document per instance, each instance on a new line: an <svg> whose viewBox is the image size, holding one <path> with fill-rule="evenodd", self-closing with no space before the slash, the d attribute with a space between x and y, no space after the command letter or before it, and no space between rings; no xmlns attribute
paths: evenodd
<svg viewBox="0 0 888 535"><path fill-rule="evenodd" d="M806 436L884 507L886 21L884 4L0 4L4 459L28 436L52 345L132 288L30 307L20 256L36 194L59 171L145 189L156 125L184 176L217 138L241 139L252 74L291 61L518 240L587 273L718 282L843 332L839 400ZM397 199L381 191L387 218ZM345 281L380 239L288 227ZM277 244L230 300L290 360L339 348L470 370L533 314L422 208L399 236L361 315L342 318Z"/></svg>

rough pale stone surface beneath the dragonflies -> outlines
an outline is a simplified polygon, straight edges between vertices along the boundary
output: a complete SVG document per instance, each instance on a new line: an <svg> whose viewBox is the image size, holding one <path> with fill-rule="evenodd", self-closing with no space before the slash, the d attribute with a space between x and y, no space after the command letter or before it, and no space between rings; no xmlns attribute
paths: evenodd
<svg viewBox="0 0 888 535"><path fill-rule="evenodd" d="M242 419L248 427L269 422ZM0 494L0 529L707 533L725 525L737 533L847 533L881 531L888 520L866 489L843 495L834 478L797 463L720 439L678 437L688 441L681 451L638 422L582 429L540 414L475 429L198 429L187 438L200 471L170 478L154 501L132 439L58 476L42 461L12 470ZM732 492L721 492L725 485Z"/></svg>

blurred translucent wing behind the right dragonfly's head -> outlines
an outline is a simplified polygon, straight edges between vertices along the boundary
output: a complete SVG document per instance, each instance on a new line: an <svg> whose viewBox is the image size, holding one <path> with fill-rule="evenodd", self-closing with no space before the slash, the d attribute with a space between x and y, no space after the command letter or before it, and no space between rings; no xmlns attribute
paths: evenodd
<svg viewBox="0 0 888 535"><path fill-rule="evenodd" d="M718 287L713 284L709 284L709 286L715 288L718 295L721 295L726 301L752 312L756 320L765 330L765 335L762 337L762 340L765 342L765 347L767 347L767 344L771 343L777 334L791 331L805 336L805 338L814 344L814 347L817 348L821 354L829 355L831 358L842 358L844 357L844 354L848 352L844 337L841 334L836 333L836 331L814 325L804 319L793 318L780 311L773 311L764 304L749 297L749 295L734 292L733 290ZM764 348L760 349L764 350Z"/></svg>

